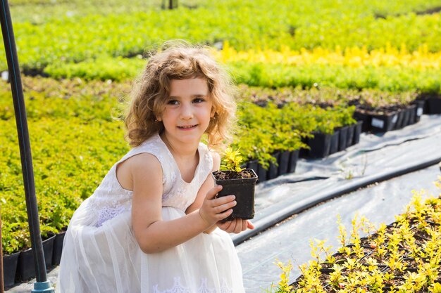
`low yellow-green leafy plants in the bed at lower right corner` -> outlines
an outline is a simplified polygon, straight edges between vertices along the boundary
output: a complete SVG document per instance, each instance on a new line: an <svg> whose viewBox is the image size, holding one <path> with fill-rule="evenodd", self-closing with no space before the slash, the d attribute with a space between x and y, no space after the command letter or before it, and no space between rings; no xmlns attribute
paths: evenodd
<svg viewBox="0 0 441 293"><path fill-rule="evenodd" d="M437 184L441 188L441 176ZM396 219L393 225L382 224L376 233L368 233L365 239L373 243L366 247L369 252L361 245L359 231L370 230L371 223L354 219L350 236L340 223L341 243L344 245L347 237L353 243L333 255L323 242L317 241L316 246L311 243L311 256L316 260L301 266L302 276L282 292L355 292L356 288L365 292L438 292L441 195L427 200L415 195ZM321 252L325 261L320 259ZM280 285L285 285L285 278Z"/></svg>

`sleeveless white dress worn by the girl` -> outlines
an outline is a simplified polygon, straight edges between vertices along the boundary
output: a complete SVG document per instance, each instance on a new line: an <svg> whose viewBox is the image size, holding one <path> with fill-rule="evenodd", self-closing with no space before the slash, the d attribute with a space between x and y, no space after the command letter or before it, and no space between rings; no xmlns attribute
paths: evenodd
<svg viewBox="0 0 441 293"><path fill-rule="evenodd" d="M235 247L228 233L219 228L164 252L144 254L139 249L132 231L132 191L118 183L116 166L142 152L161 162L164 221L185 216L185 209L213 167L211 153L200 143L199 164L192 182L186 183L159 135L132 148L73 214L64 240L56 292L244 292Z"/></svg>

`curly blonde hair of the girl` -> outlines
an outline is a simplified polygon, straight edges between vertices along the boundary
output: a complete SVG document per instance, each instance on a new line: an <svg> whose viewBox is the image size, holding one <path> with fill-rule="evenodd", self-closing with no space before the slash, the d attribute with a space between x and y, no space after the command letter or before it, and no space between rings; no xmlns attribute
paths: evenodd
<svg viewBox="0 0 441 293"><path fill-rule="evenodd" d="M172 79L206 79L215 111L206 129L210 148L220 150L231 141L235 122L237 89L223 67L211 56L206 46L191 46L182 42L167 42L152 54L147 66L130 93L130 105L125 115L126 138L133 147L156 133L164 131L157 122L170 96Z"/></svg>

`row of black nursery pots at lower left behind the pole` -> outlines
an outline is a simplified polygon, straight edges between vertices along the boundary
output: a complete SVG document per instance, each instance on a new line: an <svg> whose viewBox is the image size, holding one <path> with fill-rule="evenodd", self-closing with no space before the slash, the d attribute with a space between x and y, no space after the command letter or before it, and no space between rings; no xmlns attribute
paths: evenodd
<svg viewBox="0 0 441 293"><path fill-rule="evenodd" d="M51 235L43 240L46 269L58 266L61 260L65 232ZM3 256L4 287L13 287L15 282L26 282L35 278L35 264L32 248Z"/></svg>

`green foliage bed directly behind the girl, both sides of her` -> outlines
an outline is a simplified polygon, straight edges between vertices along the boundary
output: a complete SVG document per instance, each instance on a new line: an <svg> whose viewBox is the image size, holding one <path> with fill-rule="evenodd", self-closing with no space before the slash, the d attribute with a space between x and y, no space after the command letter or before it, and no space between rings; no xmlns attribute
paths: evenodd
<svg viewBox="0 0 441 293"><path fill-rule="evenodd" d="M4 252L30 246L11 91L0 82L0 201ZM130 83L24 77L35 187L42 234L65 228L77 206L92 195L125 152L122 115ZM263 96L263 94L262 94ZM266 165L275 150L297 150L311 131L332 132L353 123L354 107L325 110L314 105L268 103L262 108L240 99L233 145L246 159Z"/></svg>

